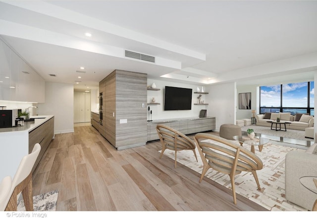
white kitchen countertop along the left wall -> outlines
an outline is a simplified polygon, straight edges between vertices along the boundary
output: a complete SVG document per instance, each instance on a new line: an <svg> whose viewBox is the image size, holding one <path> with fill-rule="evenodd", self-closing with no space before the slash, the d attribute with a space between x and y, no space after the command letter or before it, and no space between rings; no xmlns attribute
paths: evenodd
<svg viewBox="0 0 317 218"><path fill-rule="evenodd" d="M31 116L30 118L34 118L34 121L24 122L24 126L10 127L10 128L0 128L1 132L15 132L15 131L28 131L31 132L33 129L39 127L49 119L54 117L54 115L37 115Z"/></svg>

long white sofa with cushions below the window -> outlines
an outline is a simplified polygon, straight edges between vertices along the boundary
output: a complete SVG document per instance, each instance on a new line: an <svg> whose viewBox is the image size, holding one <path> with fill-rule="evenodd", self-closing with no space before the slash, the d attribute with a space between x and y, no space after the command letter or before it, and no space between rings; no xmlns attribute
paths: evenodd
<svg viewBox="0 0 317 218"><path fill-rule="evenodd" d="M286 124L287 129L298 129L305 130L307 127L314 126L314 116L308 114L298 113L296 115L291 115L290 112L279 112L279 113L265 113L257 114L257 124L258 126L271 126L271 123L267 121L273 121L280 118L280 121L287 121L291 124ZM297 121L298 120L298 121Z"/></svg>

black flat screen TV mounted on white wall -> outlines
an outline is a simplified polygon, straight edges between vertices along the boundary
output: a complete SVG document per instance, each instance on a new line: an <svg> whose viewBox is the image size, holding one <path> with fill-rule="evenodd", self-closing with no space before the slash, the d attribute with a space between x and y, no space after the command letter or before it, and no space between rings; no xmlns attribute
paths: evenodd
<svg viewBox="0 0 317 218"><path fill-rule="evenodd" d="M165 86L164 110L192 109L192 89Z"/></svg>

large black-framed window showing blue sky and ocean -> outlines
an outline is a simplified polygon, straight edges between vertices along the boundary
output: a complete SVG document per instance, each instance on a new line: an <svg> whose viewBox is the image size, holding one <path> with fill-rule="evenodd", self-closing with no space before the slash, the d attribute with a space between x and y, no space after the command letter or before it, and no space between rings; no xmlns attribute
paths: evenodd
<svg viewBox="0 0 317 218"><path fill-rule="evenodd" d="M314 115L314 82L260 87L260 113L291 112Z"/></svg>

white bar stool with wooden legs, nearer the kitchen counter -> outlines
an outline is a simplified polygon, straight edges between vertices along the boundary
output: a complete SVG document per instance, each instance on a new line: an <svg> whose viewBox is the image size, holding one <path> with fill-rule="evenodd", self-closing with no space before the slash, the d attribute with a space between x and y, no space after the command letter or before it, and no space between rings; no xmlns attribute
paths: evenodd
<svg viewBox="0 0 317 218"><path fill-rule="evenodd" d="M41 145L36 143L32 152L24 156L20 162L18 169L12 179L10 200L5 208L5 211L17 210L17 195L22 192L25 210L33 211L33 196L32 196L32 168L41 151Z"/></svg>

